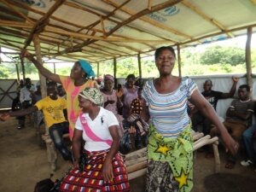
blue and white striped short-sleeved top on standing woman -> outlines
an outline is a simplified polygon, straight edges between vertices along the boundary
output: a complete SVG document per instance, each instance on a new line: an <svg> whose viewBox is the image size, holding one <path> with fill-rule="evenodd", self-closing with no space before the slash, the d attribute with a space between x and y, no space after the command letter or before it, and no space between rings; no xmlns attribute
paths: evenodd
<svg viewBox="0 0 256 192"><path fill-rule="evenodd" d="M145 84L143 97L148 102L150 120L164 137L176 138L189 125L187 102L195 89L196 84L188 77L182 79L177 90L167 94L158 93L152 80Z"/></svg>

